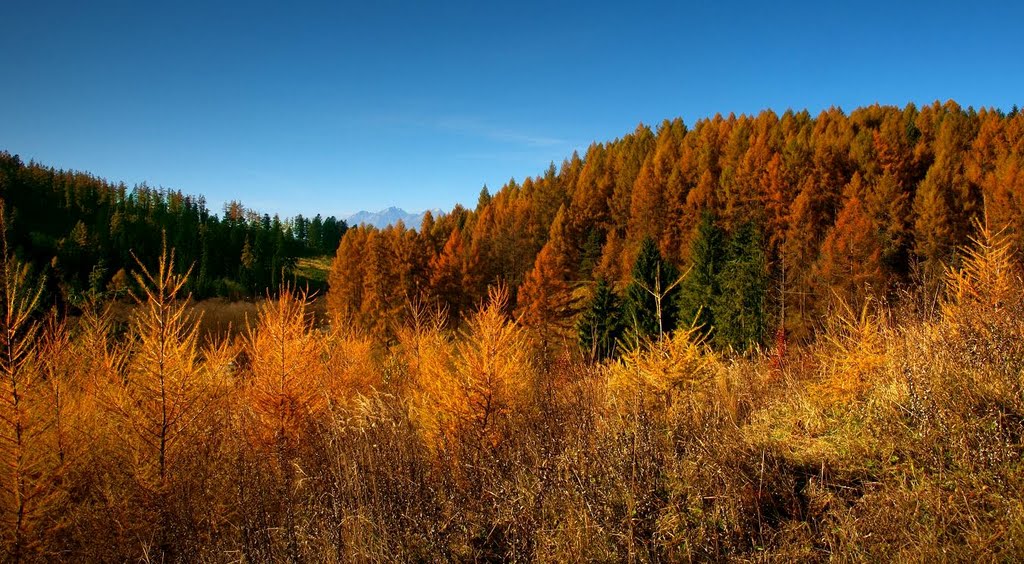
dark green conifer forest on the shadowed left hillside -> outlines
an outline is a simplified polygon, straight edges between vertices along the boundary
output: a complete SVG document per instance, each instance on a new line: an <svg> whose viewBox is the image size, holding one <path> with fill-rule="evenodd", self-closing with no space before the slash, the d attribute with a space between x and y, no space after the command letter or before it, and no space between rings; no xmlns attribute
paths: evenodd
<svg viewBox="0 0 1024 564"><path fill-rule="evenodd" d="M295 281L296 259L334 253L347 227L319 215L260 215L238 202L218 216L202 197L145 184L129 189L7 153L0 153L0 199L12 251L46 275L47 302L72 305L89 294L124 295L132 254L143 262L157 256L164 233L176 267L193 269L194 296L238 298Z"/></svg>

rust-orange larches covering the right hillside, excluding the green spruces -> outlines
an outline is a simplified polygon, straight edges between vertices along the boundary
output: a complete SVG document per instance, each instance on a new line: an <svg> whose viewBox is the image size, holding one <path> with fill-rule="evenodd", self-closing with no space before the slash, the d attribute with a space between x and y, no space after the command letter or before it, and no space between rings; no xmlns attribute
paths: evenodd
<svg viewBox="0 0 1024 564"><path fill-rule="evenodd" d="M385 240L392 247L407 241L417 253L391 253L391 277L368 270L377 261L367 243L372 229L349 230L332 272L330 309L380 334L393 331L413 298L443 305L458 324L496 284L508 286L510 306L522 311L535 307L541 281L604 277L622 289L645 237L685 271L709 211L730 235L748 222L760 226L769 326L810 336L834 281L842 278L842 293L855 298L868 283L885 294L910 281L916 263L934 277L957 260L983 208L1015 250L1024 248L1022 190L1019 113L950 101L849 114L833 107L816 117L719 115L691 126L666 121L656 131L640 125L582 158L510 181L475 210L431 216L426 231L392 228ZM556 221L561 242L551 249ZM395 264L408 261L416 264ZM852 278L844 274L854 266ZM390 298L368 289L368 279L399 278L388 286L400 289Z"/></svg>

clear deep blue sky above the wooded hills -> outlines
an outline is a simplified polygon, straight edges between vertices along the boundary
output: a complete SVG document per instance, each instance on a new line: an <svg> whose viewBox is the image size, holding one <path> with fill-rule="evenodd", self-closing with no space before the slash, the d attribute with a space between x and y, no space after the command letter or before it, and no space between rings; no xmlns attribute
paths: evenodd
<svg viewBox="0 0 1024 564"><path fill-rule="evenodd" d="M7 0L0 149L343 215L474 204L639 122L1024 104L1019 2Z"/></svg>

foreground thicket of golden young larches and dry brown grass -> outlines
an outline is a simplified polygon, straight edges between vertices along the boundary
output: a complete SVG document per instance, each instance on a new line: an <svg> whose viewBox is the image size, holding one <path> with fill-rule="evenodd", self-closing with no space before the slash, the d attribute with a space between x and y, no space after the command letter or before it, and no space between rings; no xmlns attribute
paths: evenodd
<svg viewBox="0 0 1024 564"><path fill-rule="evenodd" d="M939 296L838 309L788 354L684 329L602 363L502 286L458 330L414 301L387 348L287 289L201 341L167 253L127 328L41 318L3 253L0 559L1018 561L1024 283L976 231ZM595 357L613 304L579 326Z"/></svg>

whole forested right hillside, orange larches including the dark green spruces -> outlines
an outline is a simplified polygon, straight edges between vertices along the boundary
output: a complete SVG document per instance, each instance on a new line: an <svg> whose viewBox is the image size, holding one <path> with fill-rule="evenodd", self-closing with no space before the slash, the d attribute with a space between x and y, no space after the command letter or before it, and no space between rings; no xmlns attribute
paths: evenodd
<svg viewBox="0 0 1024 564"><path fill-rule="evenodd" d="M649 335L655 306L662 331L695 320L721 348L804 341L837 303L937 284L984 211L1021 249L1022 194L1016 110L949 101L677 119L484 189L475 209L428 216L418 232L350 230L331 308L387 340L408 303L458 319L502 283L524 322L594 351L607 343L588 335ZM601 310L612 303L621 327L586 324L612 317Z"/></svg>

